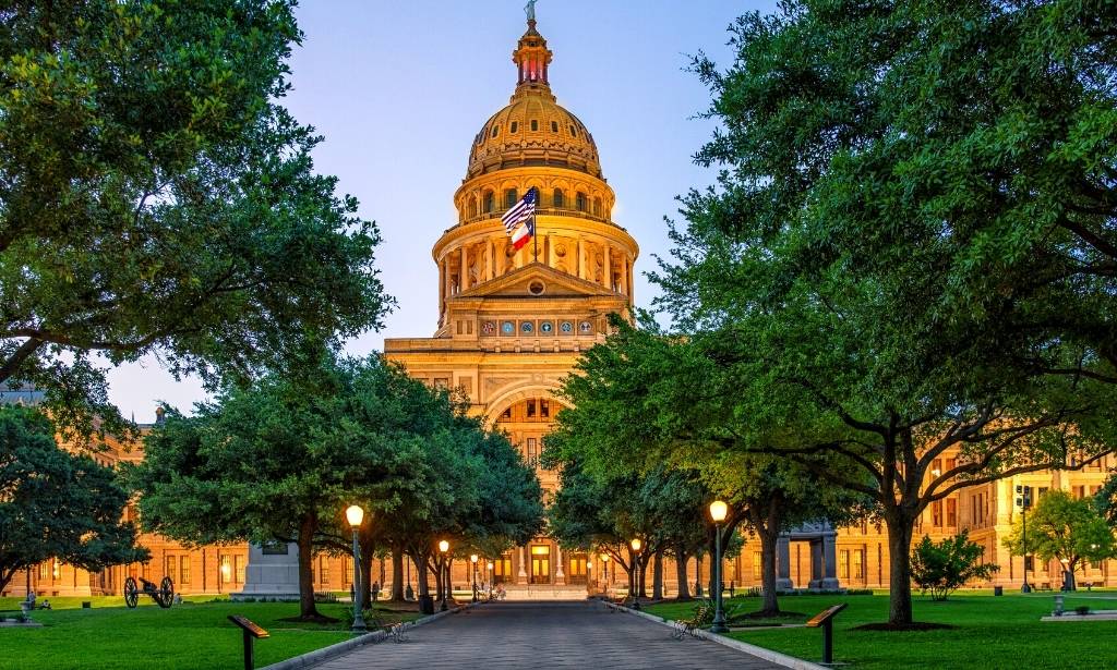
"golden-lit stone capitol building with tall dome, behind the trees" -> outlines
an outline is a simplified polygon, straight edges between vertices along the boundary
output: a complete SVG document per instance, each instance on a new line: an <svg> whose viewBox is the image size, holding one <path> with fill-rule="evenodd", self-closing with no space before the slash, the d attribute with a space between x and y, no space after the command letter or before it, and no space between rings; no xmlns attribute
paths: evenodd
<svg viewBox="0 0 1117 670"><path fill-rule="evenodd" d="M538 456L543 437L563 407L555 394L581 352L604 340L609 314L629 313L640 250L612 220L615 196L593 134L556 101L550 76L552 51L534 19L528 20L512 61L512 99L474 137L462 138L469 142L469 155L465 178L454 193L457 221L448 222L451 225L432 250L437 279L431 272L431 281L439 287L436 330L431 337L389 339L384 353L414 378L468 396L470 411L505 430L535 465L548 496L558 484L557 473L541 469ZM531 188L538 193L536 239L517 251L500 217ZM0 389L0 401L26 401L25 395ZM137 460L143 458L142 445L109 444L95 457L106 465ZM945 454L928 476L953 467L952 458ZM968 531L985 547L984 560L1001 565L992 584L1019 586L1023 560L1010 557L1001 545L1019 514L1014 486L1031 485L1040 495L1060 488L1082 497L1100 487L1111 465L1117 463L1106 457L1082 472L1033 473L963 488L927 507L916 525L916 541L925 534L938 538ZM141 544L151 550L146 564L90 574L48 561L27 574L17 573L3 595L22 595L28 586L40 595L120 594L130 575L152 581L168 575L184 594L245 589L247 545L185 548L151 534L142 535ZM726 585L758 585L760 555L760 542L746 538L742 552L725 562ZM491 579L507 584L512 598L517 593L581 598L610 584L627 584L624 573L614 573L615 566L598 554L562 547L548 537L488 559L494 564ZM783 536L776 560L783 586L888 588L887 536L871 523L837 531L799 528ZM709 562L709 557L704 563L691 560L687 566L691 585L706 583ZM313 565L316 591L349 591L353 580L349 557L323 554ZM1117 585L1114 565L1090 564L1079 581ZM468 562L455 564L455 586L468 589ZM1057 562L1037 561L1029 577L1039 588L1058 589L1060 573ZM416 570L404 574L413 584ZM675 575L675 569L665 565L668 596L676 591ZM390 560L375 561L370 579L386 588Z"/></svg>

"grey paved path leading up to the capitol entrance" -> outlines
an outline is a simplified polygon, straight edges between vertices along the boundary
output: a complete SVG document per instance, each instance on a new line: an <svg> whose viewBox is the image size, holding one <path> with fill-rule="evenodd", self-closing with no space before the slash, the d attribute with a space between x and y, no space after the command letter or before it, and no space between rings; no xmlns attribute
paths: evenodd
<svg viewBox="0 0 1117 670"><path fill-rule="evenodd" d="M411 629L408 635L402 644L366 644L316 670L780 668L716 642L672 640L663 625L591 602L488 603Z"/></svg>

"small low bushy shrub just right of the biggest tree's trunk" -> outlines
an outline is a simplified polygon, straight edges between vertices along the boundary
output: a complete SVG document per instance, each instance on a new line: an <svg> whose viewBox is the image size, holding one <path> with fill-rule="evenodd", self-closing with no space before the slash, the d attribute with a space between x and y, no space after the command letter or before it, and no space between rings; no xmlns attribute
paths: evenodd
<svg viewBox="0 0 1117 670"><path fill-rule="evenodd" d="M911 579L932 600L943 601L973 580L987 580L1000 565L983 563L985 547L972 542L966 531L933 542L924 535L911 550Z"/></svg>

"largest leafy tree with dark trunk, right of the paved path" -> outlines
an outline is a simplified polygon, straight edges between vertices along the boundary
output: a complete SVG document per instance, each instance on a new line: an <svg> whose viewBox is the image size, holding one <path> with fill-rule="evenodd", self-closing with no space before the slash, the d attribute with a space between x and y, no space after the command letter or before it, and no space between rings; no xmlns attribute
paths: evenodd
<svg viewBox="0 0 1117 670"><path fill-rule="evenodd" d="M1109 178L1109 126L1087 122L1111 100L1089 84L1111 17L1082 7L787 2L736 22L728 69L695 60L719 128L698 163L722 171L684 200L661 304L737 343L725 362L756 429L810 426L813 449L782 453L880 506L895 627L911 622L926 505L1115 444L1111 259L1069 240L1085 219L1047 190L1087 164L1087 182ZM1111 217L1082 216L1095 241L1111 235ZM930 475L947 450L956 467Z"/></svg>

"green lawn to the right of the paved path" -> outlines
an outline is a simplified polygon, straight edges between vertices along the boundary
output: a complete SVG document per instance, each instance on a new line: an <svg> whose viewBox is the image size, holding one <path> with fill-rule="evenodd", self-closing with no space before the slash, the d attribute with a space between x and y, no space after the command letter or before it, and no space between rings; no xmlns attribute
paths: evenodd
<svg viewBox="0 0 1117 670"><path fill-rule="evenodd" d="M786 611L813 615L840 602L849 606L834 625L834 660L853 663L858 670L908 668L1117 668L1117 621L1052 622L1040 616L1051 613L1051 593L1012 594L993 598L992 592L963 592L946 602L916 596L917 621L948 623L954 630L925 632L877 632L850 630L862 623L887 620L888 596L802 595L783 598ZM1090 600L1094 596L1096 600ZM1067 596L1066 608L1089 605L1117 610L1115 592L1080 591ZM727 603L760 605L758 599L736 598ZM693 603L665 603L645 608L667 619L687 618ZM822 631L808 628L734 631L731 637L790 656L819 661Z"/></svg>

